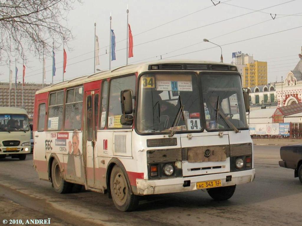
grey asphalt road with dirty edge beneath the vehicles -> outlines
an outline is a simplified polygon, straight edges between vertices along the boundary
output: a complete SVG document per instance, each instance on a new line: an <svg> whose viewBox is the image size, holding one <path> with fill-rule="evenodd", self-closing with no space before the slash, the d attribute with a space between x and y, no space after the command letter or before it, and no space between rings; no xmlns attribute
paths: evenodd
<svg viewBox="0 0 302 226"><path fill-rule="evenodd" d="M280 146L255 146L255 181L236 187L227 201L207 192L147 196L135 212L119 212L107 195L57 194L38 179L32 155L0 159L0 225L3 219L48 219L51 225L301 225L302 184L278 165ZM4 225L4 224L3 224Z"/></svg>

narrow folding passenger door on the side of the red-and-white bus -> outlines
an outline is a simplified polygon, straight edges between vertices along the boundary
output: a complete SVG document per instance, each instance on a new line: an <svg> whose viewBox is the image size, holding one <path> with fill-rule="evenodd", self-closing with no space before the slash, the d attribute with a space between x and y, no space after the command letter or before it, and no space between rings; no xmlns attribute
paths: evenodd
<svg viewBox="0 0 302 226"><path fill-rule="evenodd" d="M86 171L87 186L95 185L96 140L98 128L98 100L100 90L86 91Z"/></svg>

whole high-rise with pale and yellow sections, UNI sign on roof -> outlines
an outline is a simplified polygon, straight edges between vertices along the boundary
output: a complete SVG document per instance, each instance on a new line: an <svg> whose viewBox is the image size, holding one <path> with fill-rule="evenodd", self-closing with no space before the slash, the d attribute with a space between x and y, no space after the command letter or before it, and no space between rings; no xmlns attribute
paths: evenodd
<svg viewBox="0 0 302 226"><path fill-rule="evenodd" d="M243 87L267 84L267 62L254 60L253 56L244 53L235 55L233 59L232 63L238 67L241 74Z"/></svg>

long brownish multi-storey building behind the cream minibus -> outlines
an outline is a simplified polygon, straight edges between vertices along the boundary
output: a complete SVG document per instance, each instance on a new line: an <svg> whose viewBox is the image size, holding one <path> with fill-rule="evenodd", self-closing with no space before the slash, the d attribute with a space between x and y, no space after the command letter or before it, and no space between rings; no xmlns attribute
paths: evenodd
<svg viewBox="0 0 302 226"><path fill-rule="evenodd" d="M44 84L44 87L48 84ZM28 115L34 114L35 93L42 89L42 84L24 83L23 105L22 105L22 83L17 83L16 107L24 108ZM9 99L11 104L9 104ZM9 98L9 83L0 83L0 107L15 106L15 84L11 86L11 96Z"/></svg>

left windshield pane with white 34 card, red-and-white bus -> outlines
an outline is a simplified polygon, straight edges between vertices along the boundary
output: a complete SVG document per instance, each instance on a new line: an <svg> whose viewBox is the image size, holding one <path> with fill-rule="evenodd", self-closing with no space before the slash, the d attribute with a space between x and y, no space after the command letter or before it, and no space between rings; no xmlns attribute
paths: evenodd
<svg viewBox="0 0 302 226"><path fill-rule="evenodd" d="M200 98L193 74L145 74L140 77L137 130L140 133L201 131ZM183 117L176 121L182 108Z"/></svg>

